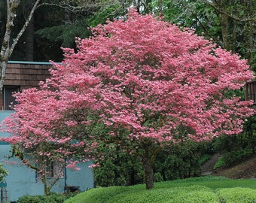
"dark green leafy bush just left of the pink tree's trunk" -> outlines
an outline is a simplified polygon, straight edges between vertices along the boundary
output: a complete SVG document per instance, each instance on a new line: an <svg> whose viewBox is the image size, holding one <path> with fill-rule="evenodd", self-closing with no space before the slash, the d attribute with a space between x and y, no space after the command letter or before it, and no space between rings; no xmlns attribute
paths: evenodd
<svg viewBox="0 0 256 203"><path fill-rule="evenodd" d="M96 116L91 115L90 117L93 119ZM103 123L92 123L87 126L87 130L92 135L100 136L98 139L99 156L94 159L94 162L98 163L100 167L93 168L97 186L130 186L143 183L144 171L140 160L136 156L130 155L128 150L121 149L120 144L114 143L113 137L108 135L108 129ZM127 135L126 130L123 130L122 135ZM103 142L101 142L102 140ZM123 142L125 141L127 143L124 145L130 146L130 140L123 140Z"/></svg>

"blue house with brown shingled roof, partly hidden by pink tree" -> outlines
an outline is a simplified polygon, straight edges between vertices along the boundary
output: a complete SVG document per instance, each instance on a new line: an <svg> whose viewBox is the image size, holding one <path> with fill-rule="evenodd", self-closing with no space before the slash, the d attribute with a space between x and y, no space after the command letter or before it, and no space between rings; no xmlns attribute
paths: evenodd
<svg viewBox="0 0 256 203"><path fill-rule="evenodd" d="M49 62L8 62L5 84L2 94L0 94L0 122L14 112L10 107L11 103L14 102L12 92L38 86L40 80L46 80L47 77L50 77L48 71L50 67ZM7 133L0 133L0 137L6 136L8 136ZM9 172L8 177L5 178L6 183L0 184L0 188L2 187L0 198L4 200L8 198L8 201L15 202L23 195L44 194L44 185L38 178L37 172L23 165L20 159L8 159L9 156L11 156L11 145L0 142L0 162L4 163L5 169ZM62 177L50 191L64 192L65 188L76 189L78 187L84 191L92 188L94 186L93 173L88 168L89 165L89 162L79 165L80 171L66 168ZM52 173L52 175L54 174Z"/></svg>

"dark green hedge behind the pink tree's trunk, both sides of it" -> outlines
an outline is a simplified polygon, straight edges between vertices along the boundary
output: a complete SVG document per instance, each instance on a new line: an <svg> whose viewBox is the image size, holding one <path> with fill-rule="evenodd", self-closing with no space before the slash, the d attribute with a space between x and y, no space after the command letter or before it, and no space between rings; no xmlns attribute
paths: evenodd
<svg viewBox="0 0 256 203"><path fill-rule="evenodd" d="M105 132L99 125L95 126L93 131ZM155 160L154 181L199 176L200 166L209 159L209 153L212 153L211 147L208 142L192 141L166 147ZM100 165L99 168L93 169L96 185L130 186L144 182L144 171L139 159L128 152L123 152L116 144L102 145L101 150L107 156L102 160L96 159ZM203 156L205 153L208 155Z"/></svg>

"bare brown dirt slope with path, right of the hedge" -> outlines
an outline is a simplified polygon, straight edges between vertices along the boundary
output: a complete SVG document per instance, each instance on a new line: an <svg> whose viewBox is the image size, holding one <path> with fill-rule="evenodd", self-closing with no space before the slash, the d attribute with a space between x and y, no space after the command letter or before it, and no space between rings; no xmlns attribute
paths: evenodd
<svg viewBox="0 0 256 203"><path fill-rule="evenodd" d="M215 162L217 162L219 155L215 154L212 159L209 159L202 166L202 175L212 174L216 176L224 176L232 179L240 178L256 178L256 156L249 159L245 159L237 165L230 166L228 168L213 169Z"/></svg>

